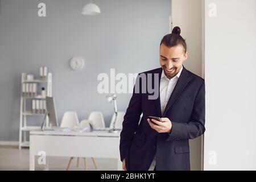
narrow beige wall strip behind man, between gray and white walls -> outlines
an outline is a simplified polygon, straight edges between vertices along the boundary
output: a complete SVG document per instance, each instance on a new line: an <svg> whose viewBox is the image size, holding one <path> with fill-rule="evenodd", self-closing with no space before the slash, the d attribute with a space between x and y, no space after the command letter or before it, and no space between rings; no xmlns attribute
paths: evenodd
<svg viewBox="0 0 256 182"><path fill-rule="evenodd" d="M185 68L203 77L202 75L202 1L201 0L172 0L173 27L181 28L181 36L186 39L189 57L184 62ZM200 170L201 140L196 138L189 141L191 170Z"/></svg>

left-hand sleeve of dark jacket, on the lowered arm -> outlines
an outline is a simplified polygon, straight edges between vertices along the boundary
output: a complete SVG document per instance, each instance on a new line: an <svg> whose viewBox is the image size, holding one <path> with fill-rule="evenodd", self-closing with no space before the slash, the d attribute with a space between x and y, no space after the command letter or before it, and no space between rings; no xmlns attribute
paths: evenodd
<svg viewBox="0 0 256 182"><path fill-rule="evenodd" d="M138 88L139 90L136 90L135 88ZM138 127L139 119L142 113L141 100L141 84L138 76L133 89L133 96L131 97L129 106L127 107L126 114L123 117L123 128L120 134L119 145L121 161L125 158L126 152L130 150L134 133Z"/></svg>

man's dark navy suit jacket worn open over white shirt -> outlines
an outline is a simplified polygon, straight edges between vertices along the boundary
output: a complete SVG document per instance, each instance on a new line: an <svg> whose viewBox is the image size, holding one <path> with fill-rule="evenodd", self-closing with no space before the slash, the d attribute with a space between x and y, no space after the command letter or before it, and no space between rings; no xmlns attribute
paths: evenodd
<svg viewBox="0 0 256 182"><path fill-rule="evenodd" d="M144 74L158 74L160 85L162 71L158 68ZM141 88L142 80L137 78L135 86L137 84ZM205 131L203 78L183 66L163 115L160 94L156 100L149 100L149 95L149 92L134 92L131 97L121 131L121 160L126 159L127 170L148 170L156 155L156 170L190 170L188 139L199 137ZM141 113L143 117L139 121ZM147 122L150 115L169 118L172 122L171 133L158 133L151 129Z"/></svg>

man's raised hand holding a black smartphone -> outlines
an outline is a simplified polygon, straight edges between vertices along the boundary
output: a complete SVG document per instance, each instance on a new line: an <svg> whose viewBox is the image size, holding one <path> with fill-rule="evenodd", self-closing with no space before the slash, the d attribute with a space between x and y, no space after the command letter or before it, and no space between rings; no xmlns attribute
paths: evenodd
<svg viewBox="0 0 256 182"><path fill-rule="evenodd" d="M172 122L170 119L161 118L161 121L157 121L156 119L147 119L150 127L158 133L170 133L172 130Z"/></svg>

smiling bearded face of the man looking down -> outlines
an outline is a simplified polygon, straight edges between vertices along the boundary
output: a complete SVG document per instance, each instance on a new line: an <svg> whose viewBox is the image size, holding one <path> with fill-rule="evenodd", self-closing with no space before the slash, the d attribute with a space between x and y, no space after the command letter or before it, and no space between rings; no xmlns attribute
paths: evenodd
<svg viewBox="0 0 256 182"><path fill-rule="evenodd" d="M179 73L183 61L187 58L188 52L184 52L184 48L181 45L170 48L164 44L160 46L160 65L168 79L175 77Z"/></svg>

